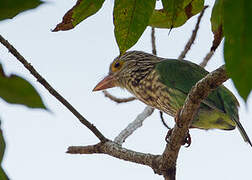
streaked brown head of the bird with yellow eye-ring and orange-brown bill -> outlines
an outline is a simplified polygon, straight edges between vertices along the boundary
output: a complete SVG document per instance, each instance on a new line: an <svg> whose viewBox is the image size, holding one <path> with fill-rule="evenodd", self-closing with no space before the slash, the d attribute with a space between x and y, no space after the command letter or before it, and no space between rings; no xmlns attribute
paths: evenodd
<svg viewBox="0 0 252 180"><path fill-rule="evenodd" d="M127 88L130 83L145 77L160 60L161 58L141 51L126 52L114 59L110 64L109 74L95 86L93 91L112 87Z"/></svg>

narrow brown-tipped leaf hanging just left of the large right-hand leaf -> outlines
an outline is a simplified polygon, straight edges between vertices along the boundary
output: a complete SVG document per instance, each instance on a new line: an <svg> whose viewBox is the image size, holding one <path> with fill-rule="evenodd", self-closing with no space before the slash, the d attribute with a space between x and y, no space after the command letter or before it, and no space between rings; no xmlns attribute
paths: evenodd
<svg viewBox="0 0 252 180"><path fill-rule="evenodd" d="M223 38L223 0L216 0L211 15L214 41L211 51L215 50Z"/></svg>

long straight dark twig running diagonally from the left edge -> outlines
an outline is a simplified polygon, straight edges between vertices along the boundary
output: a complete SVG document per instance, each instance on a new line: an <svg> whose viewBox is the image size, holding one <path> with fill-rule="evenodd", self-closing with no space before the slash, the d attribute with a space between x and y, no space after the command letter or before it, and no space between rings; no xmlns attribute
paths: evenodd
<svg viewBox="0 0 252 180"><path fill-rule="evenodd" d="M63 96L61 96L35 69L27 60L0 35L0 42L9 50L9 52L21 62L24 67L42 84L58 101L60 101L69 111L71 111L79 121L92 131L100 141L105 142L108 139L87 119L85 119Z"/></svg>

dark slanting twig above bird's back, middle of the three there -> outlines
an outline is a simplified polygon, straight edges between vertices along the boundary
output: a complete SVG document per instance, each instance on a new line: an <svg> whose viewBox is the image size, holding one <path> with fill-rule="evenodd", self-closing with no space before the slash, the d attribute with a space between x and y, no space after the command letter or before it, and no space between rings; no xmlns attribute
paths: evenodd
<svg viewBox="0 0 252 180"><path fill-rule="evenodd" d="M179 60L184 59L185 56L186 56L186 54L187 54L187 52L191 49L191 46L192 46L192 44L194 43L195 38L196 38L196 36L197 36L197 32L198 32L198 30L199 30L199 24L200 24L201 18L203 17L204 12L205 12L205 10L206 10L207 8L208 8L208 6L205 6L205 7L203 8L203 10L201 11L201 13L200 13L200 15L199 15L199 17L198 17L198 21L197 21L197 23L196 23L196 25L195 25L195 28L194 28L193 32L192 32L191 38L189 39L189 41L187 42L187 44L186 44L184 50L181 52L181 54L180 54L179 57L178 57Z"/></svg>

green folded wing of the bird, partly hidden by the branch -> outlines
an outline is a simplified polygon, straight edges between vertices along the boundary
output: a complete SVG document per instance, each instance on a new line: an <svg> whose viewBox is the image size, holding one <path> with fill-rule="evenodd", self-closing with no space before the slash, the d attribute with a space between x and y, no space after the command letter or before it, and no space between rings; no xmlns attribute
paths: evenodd
<svg viewBox="0 0 252 180"><path fill-rule="evenodd" d="M209 72L197 64L189 61L166 59L156 65L160 81L169 88L179 90L187 95L200 79ZM234 95L223 85L211 92L203 103L227 113L231 119L238 120L238 101Z"/></svg>

